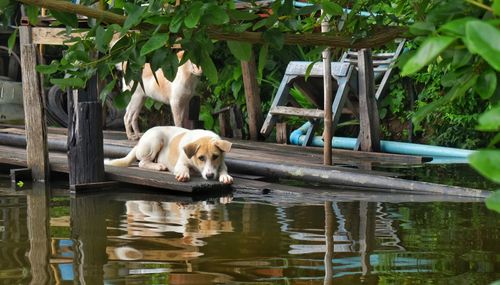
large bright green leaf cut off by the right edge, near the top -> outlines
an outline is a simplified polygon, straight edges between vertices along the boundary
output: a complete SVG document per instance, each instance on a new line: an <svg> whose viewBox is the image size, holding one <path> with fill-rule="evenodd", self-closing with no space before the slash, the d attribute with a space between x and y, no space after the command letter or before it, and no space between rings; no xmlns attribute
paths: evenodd
<svg viewBox="0 0 500 285"><path fill-rule="evenodd" d="M500 29L482 21L470 21L465 26L465 34L469 50L500 71Z"/></svg>

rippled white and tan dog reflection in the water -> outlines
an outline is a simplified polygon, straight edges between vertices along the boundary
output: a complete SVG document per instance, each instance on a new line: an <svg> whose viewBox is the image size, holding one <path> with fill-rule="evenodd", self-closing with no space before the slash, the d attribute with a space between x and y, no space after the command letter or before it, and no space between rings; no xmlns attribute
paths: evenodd
<svg viewBox="0 0 500 285"><path fill-rule="evenodd" d="M227 198L217 203L192 204L127 201L126 219L121 225L126 234L119 238L130 243L108 253L112 259L158 261L186 260L203 255L199 247L206 244L204 238L233 231L224 205L228 201ZM152 248L144 248L148 245Z"/></svg>

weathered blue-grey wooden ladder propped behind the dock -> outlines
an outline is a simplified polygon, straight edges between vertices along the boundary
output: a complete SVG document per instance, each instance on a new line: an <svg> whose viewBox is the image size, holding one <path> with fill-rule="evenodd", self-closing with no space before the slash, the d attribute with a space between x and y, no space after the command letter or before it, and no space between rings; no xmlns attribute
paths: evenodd
<svg viewBox="0 0 500 285"><path fill-rule="evenodd" d="M400 41L395 52L371 55L370 66L373 66L373 78L375 78L375 81L380 82L375 86L375 100L378 100L385 93L388 87L389 78L393 71L394 62L401 54L404 43L404 40ZM276 93L269 113L262 126L261 134L266 137L269 136L280 116L304 117L311 122L311 126L306 132L306 139L303 141L303 145L310 144L314 129L318 126L324 115L323 90L315 86L322 84L323 65L320 62L315 63L311 69L310 78L306 81L305 74L310 64L311 62L303 61L292 61L288 64L285 75L278 88L278 92ZM335 79L334 82L336 83L336 86L334 86L334 88L336 88L336 93L332 104L332 134L338 125L345 104L350 106L351 112L356 113L355 108L348 99L348 94L358 94L360 91L358 86L358 69L358 52L356 51L345 52L339 62L332 62L331 76ZM366 74L366 72L364 72L364 74ZM300 106L300 104L290 95L290 89L292 87L299 89L311 100L316 108L308 109ZM359 139L356 148L358 148L358 146Z"/></svg>

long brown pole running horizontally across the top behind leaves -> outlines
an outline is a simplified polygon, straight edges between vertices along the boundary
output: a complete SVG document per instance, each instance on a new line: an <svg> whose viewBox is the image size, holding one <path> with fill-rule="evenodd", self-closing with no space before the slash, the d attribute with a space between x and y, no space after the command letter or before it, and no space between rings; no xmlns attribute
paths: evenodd
<svg viewBox="0 0 500 285"><path fill-rule="evenodd" d="M68 12L94 18L108 24L123 25L126 16L114 14L108 11L100 11L95 8L61 0L18 0L21 3L47 8L59 12ZM151 29L153 25L143 23L135 29ZM375 32L370 37L359 41L353 41L352 37L333 36L324 34L285 34L284 42L287 45L309 45L309 46L330 46L341 48L372 48L386 44L396 38L404 37L407 27L384 27ZM223 32L217 29L208 29L208 36L214 40L232 40L249 42L252 44L264 43L261 32Z"/></svg>

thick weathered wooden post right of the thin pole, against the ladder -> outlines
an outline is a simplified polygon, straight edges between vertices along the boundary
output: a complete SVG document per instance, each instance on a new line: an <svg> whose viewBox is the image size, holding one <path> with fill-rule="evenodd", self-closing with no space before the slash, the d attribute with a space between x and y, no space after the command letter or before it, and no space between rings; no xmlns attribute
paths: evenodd
<svg viewBox="0 0 500 285"><path fill-rule="evenodd" d="M360 131L355 149L380 151L380 122L370 49L358 52L358 86Z"/></svg>

